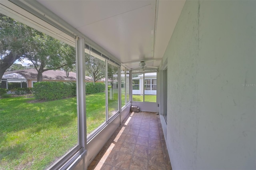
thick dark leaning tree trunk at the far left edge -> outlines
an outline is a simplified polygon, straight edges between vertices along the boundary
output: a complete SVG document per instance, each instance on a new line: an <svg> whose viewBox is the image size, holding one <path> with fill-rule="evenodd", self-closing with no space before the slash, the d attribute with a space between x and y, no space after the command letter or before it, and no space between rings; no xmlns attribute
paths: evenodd
<svg viewBox="0 0 256 170"><path fill-rule="evenodd" d="M2 79L4 72L17 60L20 55L15 55L11 51L3 60L0 61L0 79Z"/></svg>

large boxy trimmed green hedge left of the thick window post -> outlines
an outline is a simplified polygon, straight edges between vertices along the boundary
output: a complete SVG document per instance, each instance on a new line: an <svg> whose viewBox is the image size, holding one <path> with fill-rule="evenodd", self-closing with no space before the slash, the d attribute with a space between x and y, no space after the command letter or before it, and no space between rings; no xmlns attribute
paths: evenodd
<svg viewBox="0 0 256 170"><path fill-rule="evenodd" d="M36 99L58 100L76 95L75 82L42 81L34 84Z"/></svg>

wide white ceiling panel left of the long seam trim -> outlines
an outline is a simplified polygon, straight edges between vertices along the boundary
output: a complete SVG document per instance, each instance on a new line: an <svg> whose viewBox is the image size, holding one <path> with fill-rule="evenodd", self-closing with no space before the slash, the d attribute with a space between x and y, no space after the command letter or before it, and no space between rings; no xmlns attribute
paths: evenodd
<svg viewBox="0 0 256 170"><path fill-rule="evenodd" d="M121 62L153 57L154 0L38 2Z"/></svg>

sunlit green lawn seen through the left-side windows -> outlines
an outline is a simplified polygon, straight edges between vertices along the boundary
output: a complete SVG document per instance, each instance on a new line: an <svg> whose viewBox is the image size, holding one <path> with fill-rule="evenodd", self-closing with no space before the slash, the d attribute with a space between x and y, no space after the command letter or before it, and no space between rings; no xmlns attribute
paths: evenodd
<svg viewBox="0 0 256 170"><path fill-rule="evenodd" d="M0 99L0 170L44 169L77 144L76 97L30 103L32 97ZM105 93L86 95L87 134L106 120ZM109 117L118 109L108 99Z"/></svg>

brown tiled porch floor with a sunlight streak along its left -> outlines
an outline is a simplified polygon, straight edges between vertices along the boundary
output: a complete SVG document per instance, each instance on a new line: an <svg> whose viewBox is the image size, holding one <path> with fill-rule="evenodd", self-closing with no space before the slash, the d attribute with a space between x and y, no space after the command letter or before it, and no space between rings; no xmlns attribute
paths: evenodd
<svg viewBox="0 0 256 170"><path fill-rule="evenodd" d="M171 170L159 115L130 113L88 170Z"/></svg>

